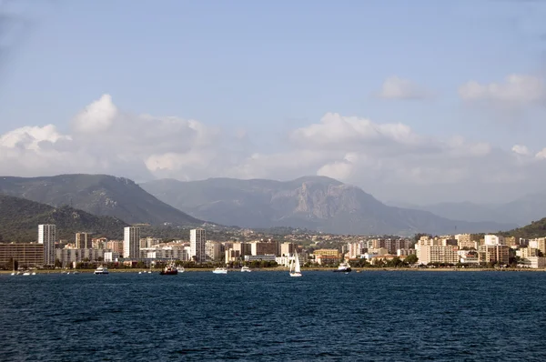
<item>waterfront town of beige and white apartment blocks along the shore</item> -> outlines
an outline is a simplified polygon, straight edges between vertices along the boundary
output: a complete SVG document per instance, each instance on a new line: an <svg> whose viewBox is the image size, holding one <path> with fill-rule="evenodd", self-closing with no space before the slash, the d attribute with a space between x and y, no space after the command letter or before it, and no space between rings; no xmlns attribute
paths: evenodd
<svg viewBox="0 0 546 362"><path fill-rule="evenodd" d="M124 228L123 240L76 233L59 240L56 225L37 226L35 243L1 243L0 266L12 269L87 269L164 267L546 267L546 237L458 234L450 236L334 236L298 234L282 240L243 229L230 241L207 237L205 228L189 230L186 239L141 237L140 226ZM214 233L212 233L214 235Z"/></svg>

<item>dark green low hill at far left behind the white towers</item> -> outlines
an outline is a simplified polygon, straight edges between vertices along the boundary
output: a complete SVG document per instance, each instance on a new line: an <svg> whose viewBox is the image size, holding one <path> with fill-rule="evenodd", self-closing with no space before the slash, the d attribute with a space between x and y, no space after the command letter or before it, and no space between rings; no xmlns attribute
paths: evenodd
<svg viewBox="0 0 546 362"><path fill-rule="evenodd" d="M76 232L97 236L123 237L124 221L95 216L69 206L53 207L24 198L0 195L0 241L37 241L39 224L55 224L57 237L74 240Z"/></svg>

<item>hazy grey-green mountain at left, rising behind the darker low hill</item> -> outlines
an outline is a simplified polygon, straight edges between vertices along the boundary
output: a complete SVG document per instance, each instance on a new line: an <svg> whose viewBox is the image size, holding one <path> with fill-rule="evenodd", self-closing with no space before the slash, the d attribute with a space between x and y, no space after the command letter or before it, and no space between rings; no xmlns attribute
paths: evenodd
<svg viewBox="0 0 546 362"><path fill-rule="evenodd" d="M0 193L50 206L72 206L130 224L196 226L203 221L157 200L134 181L107 175L0 176Z"/></svg>

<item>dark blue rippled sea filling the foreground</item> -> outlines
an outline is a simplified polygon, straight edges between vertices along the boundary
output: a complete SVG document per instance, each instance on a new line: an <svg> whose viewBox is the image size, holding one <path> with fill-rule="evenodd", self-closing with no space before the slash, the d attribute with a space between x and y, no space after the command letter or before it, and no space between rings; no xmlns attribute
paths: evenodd
<svg viewBox="0 0 546 362"><path fill-rule="evenodd" d="M546 273L0 277L0 359L546 360Z"/></svg>

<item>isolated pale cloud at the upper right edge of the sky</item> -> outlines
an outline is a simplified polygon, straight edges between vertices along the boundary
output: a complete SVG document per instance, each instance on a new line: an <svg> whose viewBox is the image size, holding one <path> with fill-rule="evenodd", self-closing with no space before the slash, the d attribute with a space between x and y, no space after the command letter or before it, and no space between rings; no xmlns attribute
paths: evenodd
<svg viewBox="0 0 546 362"><path fill-rule="evenodd" d="M532 75L508 75L503 83L480 84L470 81L459 88L465 101L507 102L511 105L530 105L546 99L543 79Z"/></svg>

